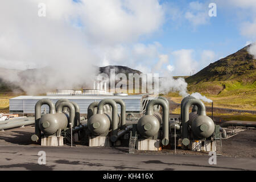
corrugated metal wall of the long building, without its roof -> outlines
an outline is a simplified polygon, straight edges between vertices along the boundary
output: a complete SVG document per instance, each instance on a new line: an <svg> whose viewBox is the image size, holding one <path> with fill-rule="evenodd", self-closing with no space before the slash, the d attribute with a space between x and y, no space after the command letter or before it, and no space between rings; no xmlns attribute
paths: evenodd
<svg viewBox="0 0 256 182"><path fill-rule="evenodd" d="M11 111L19 111L22 113L35 113L35 104L39 100L29 100L29 99L24 99L24 100L15 100L11 99L9 100L9 110ZM57 100L51 100L53 104L57 102ZM80 107L80 113L81 114L87 114L87 109L88 106L92 102L100 102L101 100L71 100L69 101L76 102L79 107ZM135 111L135 112L141 112L142 108L142 101L141 100L125 100L123 99L126 105L126 111ZM42 106L42 111L46 108L47 112L49 111L49 107L47 105ZM118 105L118 112L120 113L120 106Z"/></svg>

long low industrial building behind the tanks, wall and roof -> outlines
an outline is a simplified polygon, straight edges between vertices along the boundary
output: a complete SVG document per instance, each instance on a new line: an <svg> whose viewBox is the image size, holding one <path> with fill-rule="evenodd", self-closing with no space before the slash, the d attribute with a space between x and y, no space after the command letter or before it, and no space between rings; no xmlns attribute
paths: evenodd
<svg viewBox="0 0 256 182"><path fill-rule="evenodd" d="M67 99L71 102L76 102L80 107L81 114L87 114L88 106L92 102L100 102L104 99L121 99L125 102L126 113L143 113L147 102L154 99L154 97L145 97L143 95L123 96L122 94L121 96L19 96L10 98L9 110L11 113L34 114L36 102L42 100L43 98L49 98L53 104L60 99ZM47 105L43 105L42 112L44 110L48 112L49 107ZM120 113L120 106L118 106L118 112Z"/></svg>

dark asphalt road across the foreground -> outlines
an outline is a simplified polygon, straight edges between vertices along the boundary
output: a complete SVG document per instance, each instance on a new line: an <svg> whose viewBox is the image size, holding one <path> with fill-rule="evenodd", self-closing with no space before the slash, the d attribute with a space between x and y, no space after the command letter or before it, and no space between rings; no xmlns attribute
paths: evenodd
<svg viewBox="0 0 256 182"><path fill-rule="evenodd" d="M210 165L207 155L133 155L122 147L0 146L0 156L0 170L256 170L256 159L217 156Z"/></svg>

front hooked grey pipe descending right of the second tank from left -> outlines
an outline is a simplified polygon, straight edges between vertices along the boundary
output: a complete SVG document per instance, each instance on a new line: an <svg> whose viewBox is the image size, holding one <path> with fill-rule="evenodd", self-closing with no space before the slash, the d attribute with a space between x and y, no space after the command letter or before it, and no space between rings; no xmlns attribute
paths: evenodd
<svg viewBox="0 0 256 182"><path fill-rule="evenodd" d="M103 106L105 104L109 104L112 106L112 136L110 137L110 140L112 140L112 142L115 142L115 140L117 139L117 130L118 130L117 104L113 100L104 99L100 101L100 103L98 104L97 114L104 114Z"/></svg>

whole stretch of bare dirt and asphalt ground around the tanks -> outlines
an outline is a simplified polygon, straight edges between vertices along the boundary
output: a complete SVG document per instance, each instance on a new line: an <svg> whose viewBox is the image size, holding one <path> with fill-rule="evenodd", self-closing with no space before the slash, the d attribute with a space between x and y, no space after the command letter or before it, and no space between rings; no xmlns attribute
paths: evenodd
<svg viewBox="0 0 256 182"><path fill-rule="evenodd" d="M1 170L255 170L256 130L242 131L222 140L224 154L217 165L208 164L202 152L163 149L127 154L128 147L77 145L45 147L31 141L33 126L0 131ZM99 150L100 149L100 150ZM47 153L47 165L39 165L38 152Z"/></svg>

